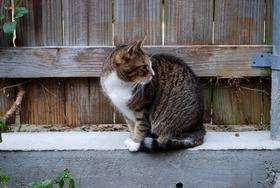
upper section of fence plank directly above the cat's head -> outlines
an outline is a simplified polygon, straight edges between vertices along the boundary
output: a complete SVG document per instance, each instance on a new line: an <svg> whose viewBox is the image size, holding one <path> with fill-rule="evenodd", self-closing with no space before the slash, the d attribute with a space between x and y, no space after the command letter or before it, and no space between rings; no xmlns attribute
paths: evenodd
<svg viewBox="0 0 280 188"><path fill-rule="evenodd" d="M161 44L161 0L115 0L114 14L115 44L144 36L144 44Z"/></svg>

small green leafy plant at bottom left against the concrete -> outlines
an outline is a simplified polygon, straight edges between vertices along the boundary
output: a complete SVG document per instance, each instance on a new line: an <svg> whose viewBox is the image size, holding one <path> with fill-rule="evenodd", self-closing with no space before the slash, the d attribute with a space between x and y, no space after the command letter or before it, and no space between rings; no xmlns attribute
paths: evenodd
<svg viewBox="0 0 280 188"><path fill-rule="evenodd" d="M59 188L63 188L66 181L68 180L68 187L75 188L75 180L73 179L70 171L66 168L61 171L54 179L47 179L39 183L31 183L31 188L53 188L55 184Z"/></svg>

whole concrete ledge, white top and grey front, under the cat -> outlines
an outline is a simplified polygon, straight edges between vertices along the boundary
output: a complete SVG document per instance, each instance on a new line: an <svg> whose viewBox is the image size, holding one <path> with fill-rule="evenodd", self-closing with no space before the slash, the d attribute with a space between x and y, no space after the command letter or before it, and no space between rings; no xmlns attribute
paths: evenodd
<svg viewBox="0 0 280 188"><path fill-rule="evenodd" d="M147 154L124 150L126 132L5 133L0 168L11 177L8 187L65 168L81 188L265 187L264 162L280 168L280 142L266 131L235 134L209 132L197 148Z"/></svg>

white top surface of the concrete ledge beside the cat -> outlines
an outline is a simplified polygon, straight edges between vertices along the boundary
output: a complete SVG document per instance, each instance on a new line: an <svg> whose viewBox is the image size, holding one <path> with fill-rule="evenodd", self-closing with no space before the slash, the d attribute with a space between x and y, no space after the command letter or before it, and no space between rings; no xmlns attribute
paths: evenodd
<svg viewBox="0 0 280 188"><path fill-rule="evenodd" d="M127 132L4 133L0 151L123 150ZM269 131L208 132L204 144L190 150L276 150Z"/></svg>

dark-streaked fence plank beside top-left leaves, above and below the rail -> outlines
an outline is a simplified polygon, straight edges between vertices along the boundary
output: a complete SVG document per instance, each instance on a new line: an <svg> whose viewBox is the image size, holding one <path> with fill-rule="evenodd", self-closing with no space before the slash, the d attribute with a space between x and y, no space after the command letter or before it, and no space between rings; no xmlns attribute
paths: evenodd
<svg viewBox="0 0 280 188"><path fill-rule="evenodd" d="M61 0L23 0L29 13L17 28L18 46L62 45ZM28 84L21 122L65 124L64 83L59 79L38 79Z"/></svg>

